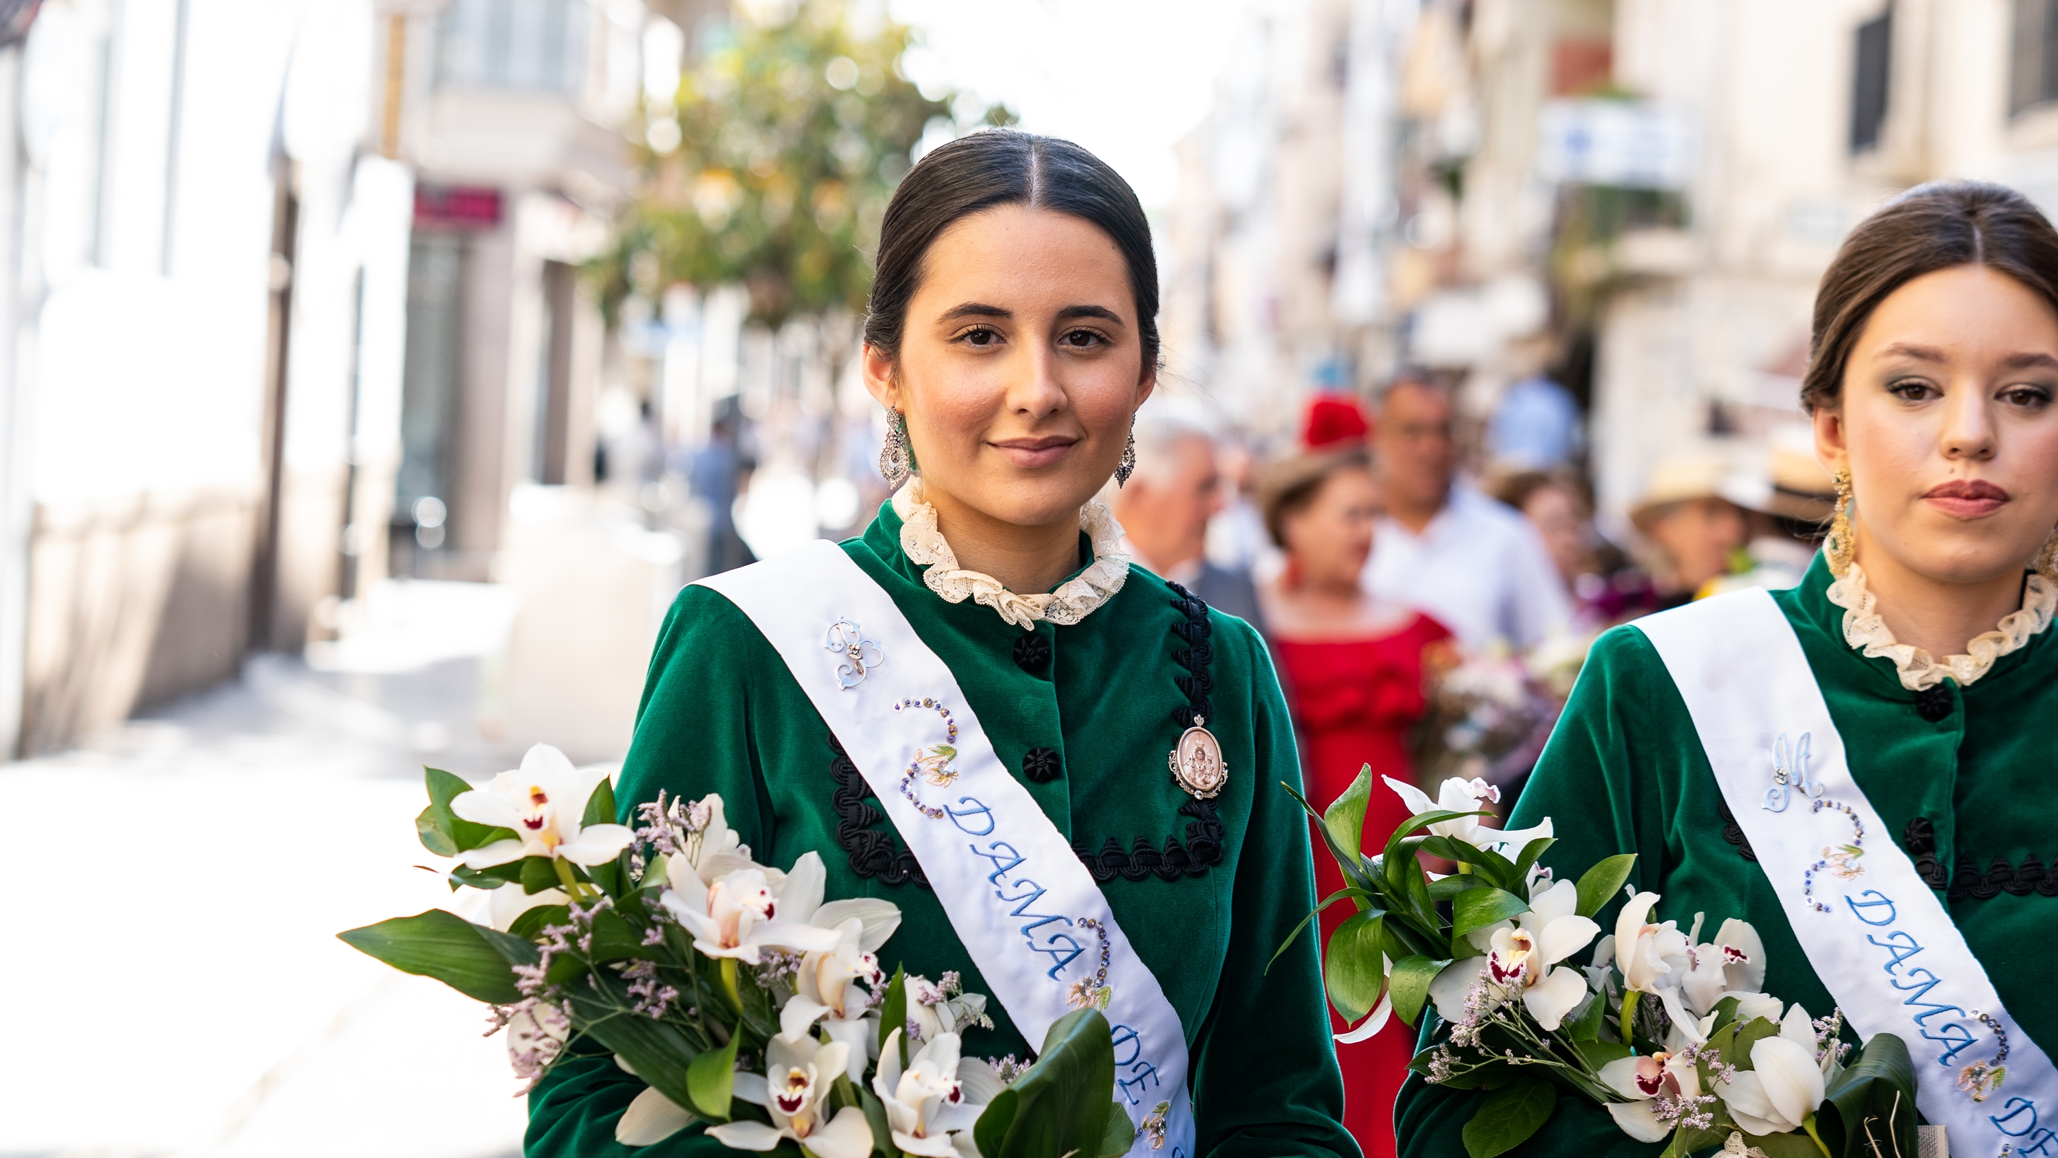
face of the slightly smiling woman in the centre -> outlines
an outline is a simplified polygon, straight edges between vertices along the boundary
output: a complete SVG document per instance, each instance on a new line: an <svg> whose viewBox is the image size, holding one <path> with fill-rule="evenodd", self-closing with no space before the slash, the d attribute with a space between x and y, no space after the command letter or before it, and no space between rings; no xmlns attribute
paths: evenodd
<svg viewBox="0 0 2058 1158"><path fill-rule="evenodd" d="M864 348L864 385L908 415L930 500L1021 527L1072 518L1101 490L1155 381L1115 243L1023 206L936 237L897 362Z"/></svg>

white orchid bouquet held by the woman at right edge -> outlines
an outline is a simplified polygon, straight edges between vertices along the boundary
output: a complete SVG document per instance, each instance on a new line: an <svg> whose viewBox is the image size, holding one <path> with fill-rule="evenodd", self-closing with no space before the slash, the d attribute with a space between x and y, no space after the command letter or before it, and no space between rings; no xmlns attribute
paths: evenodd
<svg viewBox="0 0 2058 1158"><path fill-rule="evenodd" d="M1387 786L1414 815L1377 856L1360 849L1371 767L1323 812L1294 794L1346 880L1315 913L1340 901L1356 907L1329 936L1323 981L1346 1020L1364 1018L1340 1043L1364 1041L1393 1016L1412 1026L1424 1008L1449 1022L1412 1070L1482 1090L1463 1127L1471 1158L1537 1133L1564 1092L1605 1105L1640 1142L1669 1139L1665 1158L1716 1148L1760 1158L1916 1154L1906 1043L1877 1035L1848 1057L1840 1012L1809 1018L1764 993L1766 946L1749 924L1727 919L1704 942L1702 913L1683 932L1657 921L1659 897L1626 889L1632 854L1578 882L1554 880L1537 866L1550 821L1484 825L1492 812L1482 804L1498 802L1498 790L1482 780L1445 780L1436 800L1391 777ZM1428 872L1418 854L1457 872ZM1601 936L1593 917L1618 891L1628 899ZM1576 965L1589 946L1591 963Z"/></svg>

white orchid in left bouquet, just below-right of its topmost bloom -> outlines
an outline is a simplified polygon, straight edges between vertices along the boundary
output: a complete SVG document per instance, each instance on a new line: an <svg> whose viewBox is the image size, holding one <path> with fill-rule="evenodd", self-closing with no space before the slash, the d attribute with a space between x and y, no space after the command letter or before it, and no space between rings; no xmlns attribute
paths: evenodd
<svg viewBox="0 0 2058 1158"><path fill-rule="evenodd" d="M733 866L741 862L743 866ZM712 884L702 882L694 864L675 856L665 864L665 905L689 934L694 948L708 956L733 956L749 965L761 965L759 950L786 948L796 952L823 952L836 948L836 930L811 926L807 921L782 919L782 897L790 891L803 901L821 901L821 854L807 852L794 862L792 872L768 870L737 854L708 858L708 868L720 870ZM813 884L811 884L813 882Z"/></svg>

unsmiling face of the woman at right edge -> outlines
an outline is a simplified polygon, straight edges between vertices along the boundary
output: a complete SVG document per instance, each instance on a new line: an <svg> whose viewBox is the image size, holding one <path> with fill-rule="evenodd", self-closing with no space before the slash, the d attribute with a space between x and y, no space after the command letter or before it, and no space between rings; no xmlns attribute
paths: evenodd
<svg viewBox="0 0 2058 1158"><path fill-rule="evenodd" d="M2021 572L2058 524L2058 313L1984 265L1887 294L1815 446L1848 469L1856 553L1937 582ZM1881 559L1881 555L1885 555Z"/></svg>

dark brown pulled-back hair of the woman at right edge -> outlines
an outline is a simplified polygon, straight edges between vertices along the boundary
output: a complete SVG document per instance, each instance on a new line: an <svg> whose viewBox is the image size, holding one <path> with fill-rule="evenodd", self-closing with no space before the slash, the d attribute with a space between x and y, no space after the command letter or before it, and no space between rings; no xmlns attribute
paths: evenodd
<svg viewBox="0 0 2058 1158"><path fill-rule="evenodd" d="M2029 197L1990 181L1916 185L1858 222L1823 272L1801 405L1836 407L1850 348L1879 302L1953 265L1998 269L2058 311L2058 230Z"/></svg>

